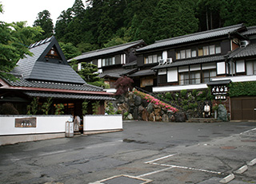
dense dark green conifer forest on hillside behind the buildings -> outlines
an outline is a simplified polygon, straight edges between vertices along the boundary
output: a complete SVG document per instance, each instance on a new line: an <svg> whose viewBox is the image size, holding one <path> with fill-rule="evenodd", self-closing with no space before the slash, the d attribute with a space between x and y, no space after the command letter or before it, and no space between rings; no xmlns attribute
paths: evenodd
<svg viewBox="0 0 256 184"><path fill-rule="evenodd" d="M75 48L66 56L70 58L130 41L152 44L239 23L256 25L255 0L75 0L55 27L48 10L38 13L34 26L45 31L38 40L54 34L66 50Z"/></svg>

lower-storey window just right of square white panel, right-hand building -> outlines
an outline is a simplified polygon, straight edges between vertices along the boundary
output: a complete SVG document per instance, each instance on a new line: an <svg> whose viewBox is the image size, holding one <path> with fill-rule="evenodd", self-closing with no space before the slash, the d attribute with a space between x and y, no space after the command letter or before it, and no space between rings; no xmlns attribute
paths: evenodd
<svg viewBox="0 0 256 184"><path fill-rule="evenodd" d="M201 76L200 72L182 72L179 78L180 84L200 84Z"/></svg>

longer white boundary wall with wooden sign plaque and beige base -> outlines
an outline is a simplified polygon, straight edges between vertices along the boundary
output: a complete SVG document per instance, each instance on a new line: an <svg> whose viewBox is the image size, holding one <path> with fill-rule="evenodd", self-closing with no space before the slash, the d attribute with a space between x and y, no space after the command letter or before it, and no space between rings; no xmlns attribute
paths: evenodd
<svg viewBox="0 0 256 184"><path fill-rule="evenodd" d="M15 119L36 117L36 127L15 127ZM65 137L70 115L0 115L0 145Z"/></svg>

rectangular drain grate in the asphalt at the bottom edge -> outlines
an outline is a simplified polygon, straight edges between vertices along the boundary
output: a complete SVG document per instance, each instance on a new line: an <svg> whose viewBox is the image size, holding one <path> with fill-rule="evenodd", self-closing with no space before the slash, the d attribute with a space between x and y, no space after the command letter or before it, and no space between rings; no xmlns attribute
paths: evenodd
<svg viewBox="0 0 256 184"><path fill-rule="evenodd" d="M143 179L143 178L136 178L133 176L128 176L128 175L119 175L119 176L114 176L112 178L106 178L101 181L101 183L104 184L144 184L144 183L149 183L151 180L148 179Z"/></svg>

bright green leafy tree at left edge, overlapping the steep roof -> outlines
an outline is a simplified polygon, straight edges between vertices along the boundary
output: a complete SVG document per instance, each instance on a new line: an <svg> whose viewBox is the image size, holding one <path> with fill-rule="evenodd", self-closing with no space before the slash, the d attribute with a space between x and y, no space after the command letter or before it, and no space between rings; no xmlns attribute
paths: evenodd
<svg viewBox="0 0 256 184"><path fill-rule="evenodd" d="M0 4L0 14L2 4ZM20 58L32 55L27 45L41 34L41 28L26 27L26 22L0 22L0 77L14 80L9 72L14 69ZM34 42L34 41L32 41Z"/></svg>

